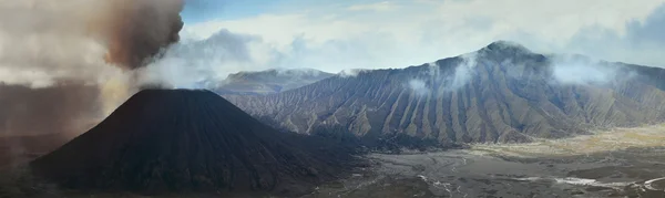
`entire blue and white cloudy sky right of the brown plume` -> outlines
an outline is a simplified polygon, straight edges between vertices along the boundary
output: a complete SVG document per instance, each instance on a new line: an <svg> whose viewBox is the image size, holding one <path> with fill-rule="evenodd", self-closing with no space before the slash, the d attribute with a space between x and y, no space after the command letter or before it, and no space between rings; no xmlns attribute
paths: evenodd
<svg viewBox="0 0 665 198"><path fill-rule="evenodd" d="M183 17L173 54L219 77L406 67L497 40L665 66L665 0L191 0Z"/></svg>

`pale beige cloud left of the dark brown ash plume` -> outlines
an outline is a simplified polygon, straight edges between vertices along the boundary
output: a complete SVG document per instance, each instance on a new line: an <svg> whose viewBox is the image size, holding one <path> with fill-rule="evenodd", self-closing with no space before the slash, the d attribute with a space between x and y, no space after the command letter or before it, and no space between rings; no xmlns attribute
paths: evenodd
<svg viewBox="0 0 665 198"><path fill-rule="evenodd" d="M31 87L61 79L96 81L104 46L86 37L83 1L0 0L0 81ZM88 4L96 4L96 1Z"/></svg>

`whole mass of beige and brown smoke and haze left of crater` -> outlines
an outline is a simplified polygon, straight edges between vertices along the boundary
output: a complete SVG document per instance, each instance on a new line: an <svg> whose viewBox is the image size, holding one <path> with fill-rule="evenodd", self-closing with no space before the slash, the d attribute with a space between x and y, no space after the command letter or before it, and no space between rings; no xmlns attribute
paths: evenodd
<svg viewBox="0 0 665 198"><path fill-rule="evenodd" d="M0 135L90 127L135 88L133 70L178 40L183 3L0 0Z"/></svg>

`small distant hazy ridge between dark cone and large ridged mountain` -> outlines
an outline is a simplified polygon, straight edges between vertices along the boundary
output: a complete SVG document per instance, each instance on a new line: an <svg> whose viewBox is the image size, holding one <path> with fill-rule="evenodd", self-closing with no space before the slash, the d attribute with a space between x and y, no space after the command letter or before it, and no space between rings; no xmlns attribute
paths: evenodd
<svg viewBox="0 0 665 198"><path fill-rule="evenodd" d="M272 94L301 87L332 76L318 70L266 70L239 72L228 77L216 90L221 94Z"/></svg>

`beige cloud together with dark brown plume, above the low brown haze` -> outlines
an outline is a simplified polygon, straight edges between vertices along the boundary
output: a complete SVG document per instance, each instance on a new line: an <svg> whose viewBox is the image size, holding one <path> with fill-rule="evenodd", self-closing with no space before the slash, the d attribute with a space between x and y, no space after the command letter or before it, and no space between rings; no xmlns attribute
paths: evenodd
<svg viewBox="0 0 665 198"><path fill-rule="evenodd" d="M0 81L103 83L176 42L182 0L0 0Z"/></svg>

